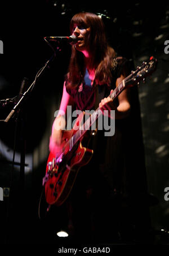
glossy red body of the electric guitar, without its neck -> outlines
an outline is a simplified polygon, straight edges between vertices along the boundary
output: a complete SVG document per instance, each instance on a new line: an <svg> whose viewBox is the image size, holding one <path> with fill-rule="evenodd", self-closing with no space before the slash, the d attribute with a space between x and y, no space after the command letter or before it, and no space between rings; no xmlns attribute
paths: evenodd
<svg viewBox="0 0 169 256"><path fill-rule="evenodd" d="M69 140L77 131L77 127L81 124L84 113L78 116L73 129L65 131L63 138ZM46 166L45 196L46 202L50 205L60 206L69 196L74 181L77 177L79 169L86 165L92 158L93 150L87 149L84 145L88 145L90 141L90 131L85 133L81 141L73 149L69 147L65 149L66 154L59 163L55 163L56 156L52 153L48 156Z"/></svg>

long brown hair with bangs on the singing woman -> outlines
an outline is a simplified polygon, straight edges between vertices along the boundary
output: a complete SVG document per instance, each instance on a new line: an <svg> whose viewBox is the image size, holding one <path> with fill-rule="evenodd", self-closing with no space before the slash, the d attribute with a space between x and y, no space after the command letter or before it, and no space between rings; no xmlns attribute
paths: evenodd
<svg viewBox="0 0 169 256"><path fill-rule="evenodd" d="M115 51L108 45L103 20L91 12L79 12L70 21L70 33L73 32L73 25L79 24L83 27L90 27L88 42L92 59L91 68L95 68L95 81L97 84L110 84L112 78L113 59ZM72 46L72 55L68 67L67 85L74 87L79 84L85 74L84 55L81 51L75 50Z"/></svg>

